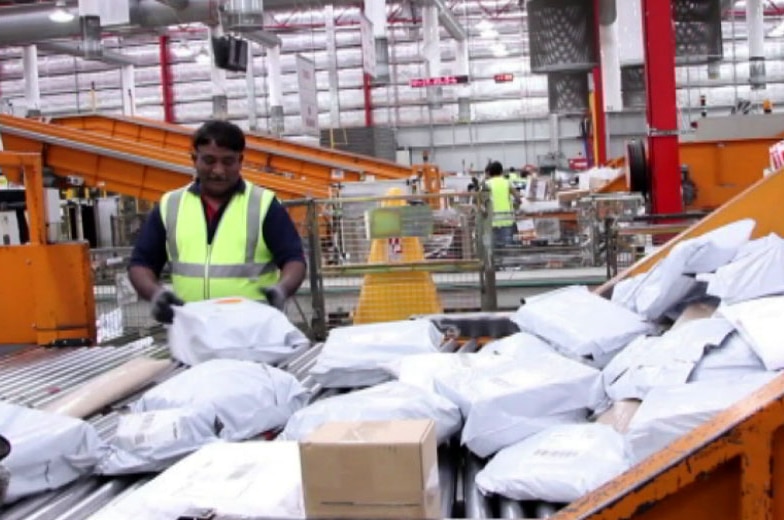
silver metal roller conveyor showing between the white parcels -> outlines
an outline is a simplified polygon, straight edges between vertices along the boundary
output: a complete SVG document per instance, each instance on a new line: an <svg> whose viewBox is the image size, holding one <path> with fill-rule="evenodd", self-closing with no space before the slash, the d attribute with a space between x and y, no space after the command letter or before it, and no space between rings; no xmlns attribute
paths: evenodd
<svg viewBox="0 0 784 520"><path fill-rule="evenodd" d="M322 389L308 375L321 353L322 345L302 350L292 356L281 368L292 373L313 394L313 400L337 395L337 391ZM444 352L472 352L475 341L460 344L456 340L445 342ZM44 348L31 347L0 358L0 400L40 407L58 398L106 370L134 357L165 357L165 345L143 338L133 343L114 347ZM185 370L179 366L166 374L164 379ZM122 402L114 403L111 410L88 418L102 439L114 435L119 414L117 409L138 398L139 393ZM454 443L453 443L454 444ZM522 518L526 509L522 504L483 496L474 484L474 476L484 461L470 455L456 445L439 448L439 475L442 488L444 518ZM107 506L121 495L131 492L147 482L150 476L108 478L91 476L62 489L23 499L11 506L0 508L0 520L84 520ZM547 504L535 504L547 518L555 509ZM533 512L533 511L532 511ZM532 514L529 512L529 516ZM549 513L549 514L548 514ZM517 516L513 516L517 515Z"/></svg>

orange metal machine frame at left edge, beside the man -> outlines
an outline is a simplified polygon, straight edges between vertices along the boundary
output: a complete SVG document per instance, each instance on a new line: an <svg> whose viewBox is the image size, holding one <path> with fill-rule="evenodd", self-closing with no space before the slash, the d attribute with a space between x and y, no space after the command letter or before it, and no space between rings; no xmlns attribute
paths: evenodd
<svg viewBox="0 0 784 520"><path fill-rule="evenodd" d="M39 154L0 152L3 173L24 183L30 241L0 246L0 344L96 340L87 243L46 243Z"/></svg>

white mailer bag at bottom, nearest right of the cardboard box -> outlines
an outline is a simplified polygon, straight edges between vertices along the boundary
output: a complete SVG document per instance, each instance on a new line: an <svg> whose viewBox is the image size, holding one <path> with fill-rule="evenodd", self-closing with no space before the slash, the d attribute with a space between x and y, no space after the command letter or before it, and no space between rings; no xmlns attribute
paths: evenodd
<svg viewBox="0 0 784 520"><path fill-rule="evenodd" d="M573 502L629 467L623 436L605 424L551 426L496 453L476 476L486 494Z"/></svg>

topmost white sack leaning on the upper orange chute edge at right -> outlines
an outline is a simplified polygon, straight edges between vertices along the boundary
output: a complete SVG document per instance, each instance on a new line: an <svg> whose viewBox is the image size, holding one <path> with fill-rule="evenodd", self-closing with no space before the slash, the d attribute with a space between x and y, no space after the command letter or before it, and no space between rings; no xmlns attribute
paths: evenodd
<svg viewBox="0 0 784 520"><path fill-rule="evenodd" d="M755 224L744 219L675 244L644 275L635 290L634 308L650 320L664 316L696 286L697 281L686 275L712 272L731 262L748 243Z"/></svg>

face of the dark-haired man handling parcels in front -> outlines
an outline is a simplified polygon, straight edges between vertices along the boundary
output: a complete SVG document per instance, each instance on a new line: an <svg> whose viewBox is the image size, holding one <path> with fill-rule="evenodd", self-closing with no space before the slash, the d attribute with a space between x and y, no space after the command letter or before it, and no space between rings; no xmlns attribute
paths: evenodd
<svg viewBox="0 0 784 520"><path fill-rule="evenodd" d="M240 178L242 154L215 143L203 144L192 154L202 193L224 197L231 193Z"/></svg>

